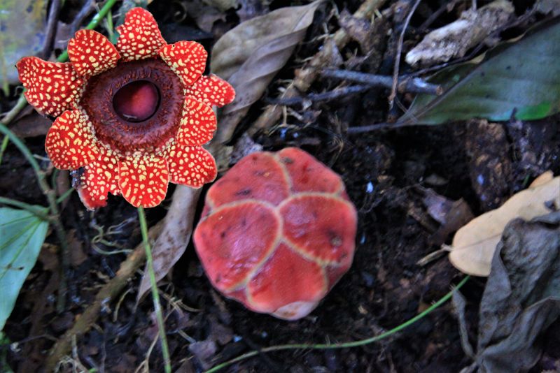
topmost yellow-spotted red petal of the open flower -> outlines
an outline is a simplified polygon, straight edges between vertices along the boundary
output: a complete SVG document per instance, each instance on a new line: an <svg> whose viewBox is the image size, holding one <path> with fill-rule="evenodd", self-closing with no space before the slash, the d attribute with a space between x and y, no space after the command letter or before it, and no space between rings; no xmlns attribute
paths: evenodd
<svg viewBox="0 0 560 373"><path fill-rule="evenodd" d="M120 34L117 49L124 61L156 57L158 50L166 45L158 23L146 9L129 10L125 23L117 31Z"/></svg>

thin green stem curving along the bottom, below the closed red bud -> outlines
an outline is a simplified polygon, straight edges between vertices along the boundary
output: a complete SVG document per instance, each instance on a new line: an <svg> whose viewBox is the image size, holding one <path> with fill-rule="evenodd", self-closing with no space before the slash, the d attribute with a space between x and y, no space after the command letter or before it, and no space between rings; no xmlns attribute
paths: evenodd
<svg viewBox="0 0 560 373"><path fill-rule="evenodd" d="M451 291L449 291L449 293L445 294L442 298L440 298L440 300L437 300L437 302L435 302L433 305L431 305L430 307L426 308L423 312L417 314L416 316L414 316L412 319L409 319L408 321L405 321L404 323L400 324L399 326L395 326L395 328L391 329L391 330L387 330L386 332L381 333L380 335L376 335L374 337L370 337L367 339L361 339L359 341L353 341L353 342L346 342L346 343L333 343L333 344L281 344L279 346L271 346L271 347L266 347L265 349L261 349L260 351L251 351L248 353L244 353L241 356L237 356L237 358L234 358L232 360L228 360L225 363L221 363L219 365L216 365L216 367L213 367L209 370L207 370L205 373L214 373L214 372L218 372L218 370L221 370L225 367L228 367L234 363L237 363L241 360L245 360L246 358L251 358L253 356L258 355L259 353L265 353L265 352L272 352L272 351L281 351L281 350L292 350L292 349L314 349L314 350L327 350L327 349L348 349L351 347L358 347L358 346L364 346L366 344L370 344L373 342L377 342L381 339L384 339L386 337L389 337L393 334L395 334L396 332L400 332L400 330L403 330L405 328L408 328L409 326L411 326L412 324L416 323L416 321L419 321L421 319L423 319L426 315L430 314L431 312L433 312L434 309L436 309L437 307L440 307L441 305L443 305L445 302L447 302L449 299L451 299L451 297L453 296L453 294L458 291L458 289L460 289L470 278L470 276L465 276L465 278L463 278L458 284L457 286L455 286Z"/></svg>

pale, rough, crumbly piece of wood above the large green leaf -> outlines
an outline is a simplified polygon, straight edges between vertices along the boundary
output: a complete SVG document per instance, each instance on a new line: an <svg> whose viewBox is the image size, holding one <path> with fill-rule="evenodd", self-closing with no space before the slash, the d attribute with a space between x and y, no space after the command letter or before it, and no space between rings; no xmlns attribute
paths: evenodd
<svg viewBox="0 0 560 373"><path fill-rule="evenodd" d="M510 1L496 0L479 9L465 10L455 22L431 31L407 53L408 64L436 64L463 57L470 48L503 27L514 15Z"/></svg>

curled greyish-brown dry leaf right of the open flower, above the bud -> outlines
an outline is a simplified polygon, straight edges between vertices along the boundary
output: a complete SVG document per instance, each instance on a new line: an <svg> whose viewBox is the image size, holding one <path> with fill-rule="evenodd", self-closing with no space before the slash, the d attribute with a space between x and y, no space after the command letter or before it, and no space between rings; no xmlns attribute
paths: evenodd
<svg viewBox="0 0 560 373"><path fill-rule="evenodd" d="M322 0L290 6L252 18L228 31L212 50L212 73L235 88L235 101L222 112L214 139L226 142L233 127L265 92L274 75L286 64L313 21Z"/></svg>

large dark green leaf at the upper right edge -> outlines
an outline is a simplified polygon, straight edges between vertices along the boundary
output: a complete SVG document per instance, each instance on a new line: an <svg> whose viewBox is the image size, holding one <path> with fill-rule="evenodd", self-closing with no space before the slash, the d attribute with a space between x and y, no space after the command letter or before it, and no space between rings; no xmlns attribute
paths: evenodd
<svg viewBox="0 0 560 373"><path fill-rule="evenodd" d="M421 94L399 124L442 124L482 117L541 119L560 110L560 22L529 31L429 80L441 96Z"/></svg>

